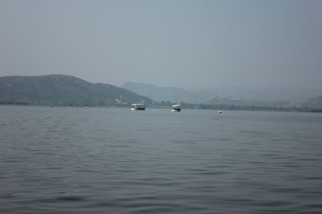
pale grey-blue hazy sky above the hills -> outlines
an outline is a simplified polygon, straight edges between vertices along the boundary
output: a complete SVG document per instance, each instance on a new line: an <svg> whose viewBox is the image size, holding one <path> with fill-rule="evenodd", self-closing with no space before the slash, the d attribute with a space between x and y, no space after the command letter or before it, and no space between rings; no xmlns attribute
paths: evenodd
<svg viewBox="0 0 322 214"><path fill-rule="evenodd" d="M0 0L0 76L322 88L321 0Z"/></svg>

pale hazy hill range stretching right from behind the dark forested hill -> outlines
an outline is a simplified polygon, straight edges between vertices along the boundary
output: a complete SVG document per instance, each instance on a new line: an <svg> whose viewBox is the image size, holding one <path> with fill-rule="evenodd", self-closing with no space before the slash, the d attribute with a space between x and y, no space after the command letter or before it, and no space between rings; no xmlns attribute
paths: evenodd
<svg viewBox="0 0 322 214"><path fill-rule="evenodd" d="M322 89L306 88L259 88L259 87L221 87L194 92L174 88L159 87L146 83L126 82L122 86L138 94L161 102L169 100L179 103L229 104L237 106L284 106L294 101L307 101L322 94Z"/></svg>

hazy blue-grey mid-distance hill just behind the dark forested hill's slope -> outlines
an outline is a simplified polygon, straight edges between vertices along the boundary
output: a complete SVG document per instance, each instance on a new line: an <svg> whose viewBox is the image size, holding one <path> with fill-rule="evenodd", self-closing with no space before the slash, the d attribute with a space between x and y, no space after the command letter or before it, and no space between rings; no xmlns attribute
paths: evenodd
<svg viewBox="0 0 322 214"><path fill-rule="evenodd" d="M181 101L188 103L204 103L206 101L191 91L175 87L160 87L141 82L126 82L120 87L134 91L137 94L147 96L157 102L164 100L176 103L180 103Z"/></svg>

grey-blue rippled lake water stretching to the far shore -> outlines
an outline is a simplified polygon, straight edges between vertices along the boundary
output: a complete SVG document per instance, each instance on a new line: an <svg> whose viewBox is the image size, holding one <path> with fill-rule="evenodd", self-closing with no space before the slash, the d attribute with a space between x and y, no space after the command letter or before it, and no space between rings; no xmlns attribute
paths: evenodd
<svg viewBox="0 0 322 214"><path fill-rule="evenodd" d="M0 106L1 213L321 213L322 114Z"/></svg>

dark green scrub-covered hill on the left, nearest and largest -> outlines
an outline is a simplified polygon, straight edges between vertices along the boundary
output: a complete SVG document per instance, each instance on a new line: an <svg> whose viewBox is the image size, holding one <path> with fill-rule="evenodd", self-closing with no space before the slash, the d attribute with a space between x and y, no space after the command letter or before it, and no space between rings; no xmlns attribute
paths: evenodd
<svg viewBox="0 0 322 214"><path fill-rule="evenodd" d="M0 102L8 101L70 106L130 106L153 102L127 89L62 74L0 77Z"/></svg>

